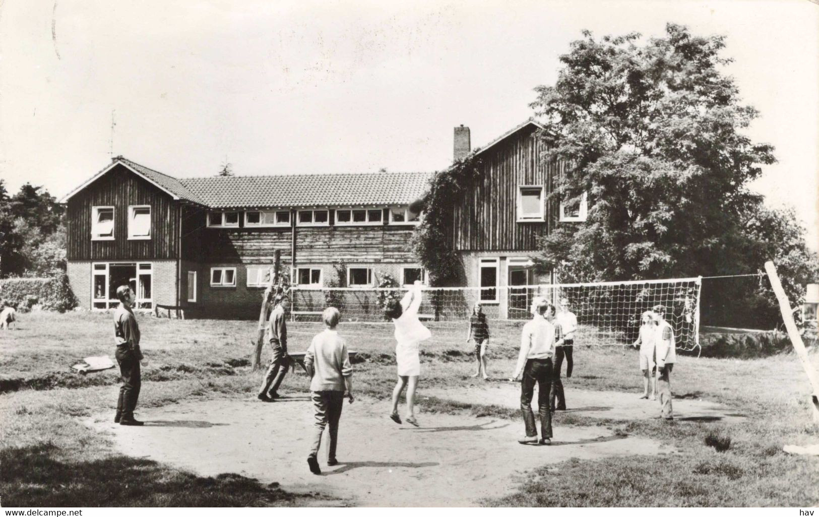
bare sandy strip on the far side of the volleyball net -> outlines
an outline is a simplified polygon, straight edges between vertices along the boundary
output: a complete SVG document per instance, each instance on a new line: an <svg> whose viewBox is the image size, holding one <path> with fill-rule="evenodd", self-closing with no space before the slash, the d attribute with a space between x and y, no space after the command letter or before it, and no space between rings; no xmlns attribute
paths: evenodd
<svg viewBox="0 0 819 517"><path fill-rule="evenodd" d="M640 399L640 392L594 392L566 385L569 413L593 418L649 419L660 414L658 401ZM492 381L485 388L428 388L423 396L441 397L451 401L517 407L520 384ZM536 397L537 395L535 395ZM681 398L672 401L674 418L696 422L736 422L745 418L729 407L712 401ZM534 406L534 402L532 403Z"/></svg>

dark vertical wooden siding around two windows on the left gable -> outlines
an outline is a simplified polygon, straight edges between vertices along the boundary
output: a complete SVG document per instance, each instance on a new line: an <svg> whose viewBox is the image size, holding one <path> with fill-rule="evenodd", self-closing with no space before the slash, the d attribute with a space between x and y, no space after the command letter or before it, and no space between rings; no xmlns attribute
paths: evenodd
<svg viewBox="0 0 819 517"><path fill-rule="evenodd" d="M132 205L151 206L151 238L128 238L128 207ZM114 206L113 240L91 240L93 206ZM179 202L121 165L70 198L66 224L66 258L70 261L179 257Z"/></svg>

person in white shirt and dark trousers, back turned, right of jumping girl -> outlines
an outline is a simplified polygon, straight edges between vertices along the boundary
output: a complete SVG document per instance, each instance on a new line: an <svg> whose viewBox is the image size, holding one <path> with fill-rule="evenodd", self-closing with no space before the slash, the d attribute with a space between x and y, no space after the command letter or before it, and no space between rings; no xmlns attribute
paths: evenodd
<svg viewBox="0 0 819 517"><path fill-rule="evenodd" d="M532 320L523 325L520 340L518 364L514 380L523 380L520 392L520 409L526 436L520 443L536 443L537 428L532 413L532 395L537 384L537 407L541 419L541 445L550 445L552 438L552 415L549 410L549 392L552 377L552 356L554 355L555 329L545 315L552 314L554 306L544 299L536 300Z"/></svg>

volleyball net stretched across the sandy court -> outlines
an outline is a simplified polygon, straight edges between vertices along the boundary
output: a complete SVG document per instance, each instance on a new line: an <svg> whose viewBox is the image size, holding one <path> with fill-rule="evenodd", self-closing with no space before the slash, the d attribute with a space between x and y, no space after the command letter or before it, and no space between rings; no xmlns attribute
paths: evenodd
<svg viewBox="0 0 819 517"><path fill-rule="evenodd" d="M629 282L563 283L499 286L494 288L422 288L419 319L431 328L460 327L481 302L487 320L501 327L532 318L532 302L544 297L557 305L565 298L577 316L576 345L606 346L634 342L640 332L640 315L663 306L665 319L674 329L676 347L699 347L700 278L637 280ZM342 314L342 323L391 324L384 307L400 299L406 287L396 288L291 288L291 320L320 322L328 306ZM369 332L378 333L370 330ZM385 336L391 330L384 329ZM434 335L433 335L434 338Z"/></svg>

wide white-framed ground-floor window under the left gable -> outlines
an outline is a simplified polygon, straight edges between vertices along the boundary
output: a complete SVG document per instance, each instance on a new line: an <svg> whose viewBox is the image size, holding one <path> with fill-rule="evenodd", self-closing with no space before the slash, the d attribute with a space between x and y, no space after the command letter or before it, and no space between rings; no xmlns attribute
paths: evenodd
<svg viewBox="0 0 819 517"><path fill-rule="evenodd" d="M91 268L91 302L94 309L109 309L118 306L120 300L116 290L127 285L133 291L137 309L150 309L153 304L152 276L150 262L97 262Z"/></svg>

